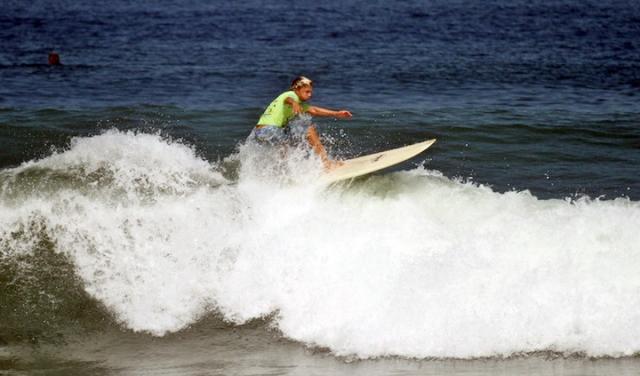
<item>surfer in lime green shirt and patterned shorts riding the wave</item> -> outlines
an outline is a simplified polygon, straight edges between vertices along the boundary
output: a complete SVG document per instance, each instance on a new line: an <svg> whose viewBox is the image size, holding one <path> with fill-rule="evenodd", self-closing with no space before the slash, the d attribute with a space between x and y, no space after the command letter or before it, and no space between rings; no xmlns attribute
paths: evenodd
<svg viewBox="0 0 640 376"><path fill-rule="evenodd" d="M289 122L297 115L326 116L336 118L350 118L347 110L330 110L307 103L313 95L313 81L304 76L296 77L288 91L274 99L264 111L258 124L251 132L250 138L268 144L282 144L290 138ZM339 161L332 161L320 141L315 126L310 126L306 132L306 140L313 150L320 156L326 168L339 165Z"/></svg>

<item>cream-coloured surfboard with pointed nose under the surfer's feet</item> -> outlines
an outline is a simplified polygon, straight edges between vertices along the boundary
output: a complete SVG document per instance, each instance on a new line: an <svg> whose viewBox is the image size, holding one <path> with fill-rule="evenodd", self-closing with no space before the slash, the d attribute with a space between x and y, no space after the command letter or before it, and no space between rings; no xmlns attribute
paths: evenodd
<svg viewBox="0 0 640 376"><path fill-rule="evenodd" d="M347 159L346 161L342 161L342 165L325 173L323 180L326 183L335 183L391 167L422 153L434 142L436 142L435 138L397 149Z"/></svg>

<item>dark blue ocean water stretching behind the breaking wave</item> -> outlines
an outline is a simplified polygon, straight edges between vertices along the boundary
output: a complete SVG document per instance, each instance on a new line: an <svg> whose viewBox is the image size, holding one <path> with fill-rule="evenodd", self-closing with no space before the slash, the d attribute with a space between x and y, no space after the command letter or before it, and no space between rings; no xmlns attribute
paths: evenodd
<svg viewBox="0 0 640 376"><path fill-rule="evenodd" d="M355 144L345 155L437 137L431 163L447 176L638 198L637 2L2 8L1 166L113 127L159 129L224 156L304 74L314 104L355 114L339 125ZM51 50L63 66L47 66Z"/></svg>

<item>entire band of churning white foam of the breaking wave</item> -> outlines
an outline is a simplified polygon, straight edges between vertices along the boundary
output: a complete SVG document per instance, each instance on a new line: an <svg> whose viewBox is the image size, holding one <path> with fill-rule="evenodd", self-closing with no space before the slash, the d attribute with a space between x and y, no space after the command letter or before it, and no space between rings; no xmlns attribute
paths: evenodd
<svg viewBox="0 0 640 376"><path fill-rule="evenodd" d="M154 335L218 312L360 358L640 351L638 202L422 167L324 187L318 160L259 149L212 163L158 135L76 138L0 171L0 257L48 237L124 327Z"/></svg>

